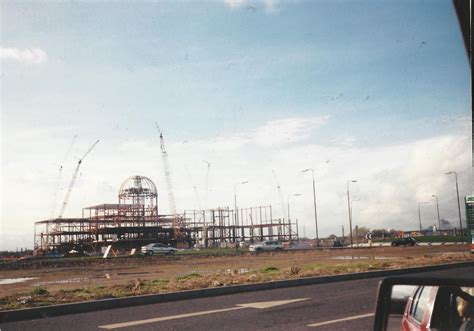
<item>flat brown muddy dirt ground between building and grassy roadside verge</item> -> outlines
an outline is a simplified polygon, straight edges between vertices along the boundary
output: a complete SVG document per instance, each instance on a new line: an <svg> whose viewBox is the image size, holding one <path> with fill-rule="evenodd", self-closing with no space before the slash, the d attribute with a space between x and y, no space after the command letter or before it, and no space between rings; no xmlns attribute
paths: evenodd
<svg viewBox="0 0 474 331"><path fill-rule="evenodd" d="M465 245L380 247L366 249L287 251L280 253L246 253L241 256L152 256L86 259L80 263L58 263L46 266L25 267L17 270L0 270L0 298L27 293L35 287L48 292L114 285L142 281L179 279L190 274L201 276L252 273L265 268L299 268L320 265L357 265L360 263L386 263L389 268L411 265L429 265L471 260ZM89 261L87 261L89 260ZM77 261L76 261L77 262ZM74 265L78 264L78 265ZM369 265L370 266L370 265ZM369 268L370 270L370 268ZM313 273L314 274L314 273ZM33 278L25 282L2 284L5 279Z"/></svg>

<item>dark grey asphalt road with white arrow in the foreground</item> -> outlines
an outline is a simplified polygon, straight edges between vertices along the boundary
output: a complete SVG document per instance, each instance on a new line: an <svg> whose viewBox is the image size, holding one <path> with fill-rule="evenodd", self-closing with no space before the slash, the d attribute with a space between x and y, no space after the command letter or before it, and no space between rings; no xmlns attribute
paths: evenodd
<svg viewBox="0 0 474 331"><path fill-rule="evenodd" d="M474 267L423 273L428 274L468 278L474 277ZM379 281L354 280L120 308L4 323L0 330L371 330Z"/></svg>

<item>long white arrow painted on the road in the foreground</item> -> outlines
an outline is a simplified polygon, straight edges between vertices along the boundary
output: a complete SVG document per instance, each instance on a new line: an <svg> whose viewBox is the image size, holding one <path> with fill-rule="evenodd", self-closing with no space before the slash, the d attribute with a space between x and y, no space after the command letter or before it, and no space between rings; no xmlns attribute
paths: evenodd
<svg viewBox="0 0 474 331"><path fill-rule="evenodd" d="M136 325L142 325L142 324L148 324L148 323L169 321L169 320L174 320L174 319L179 319L179 318L187 318L187 317L200 316L200 315L223 313L223 312L226 312L226 311L238 310L238 309L243 309L243 308L265 309L265 308L271 308L271 307L275 307L275 306L286 305L288 303L293 303L293 302L308 300L308 299L309 298L292 299L292 300L280 300L280 301L254 302L254 303L243 303L243 304L238 304L237 307L232 307L232 308L207 310L207 311L200 311L200 312L196 312L196 313L188 313L188 314L180 314L180 315L173 315L173 316L149 318L149 319L146 319L146 320L139 320L139 321L131 321L131 322L124 322L124 323L100 325L99 328L101 328L101 329L119 329L119 328L126 328L126 327L129 327L129 326L136 326Z"/></svg>

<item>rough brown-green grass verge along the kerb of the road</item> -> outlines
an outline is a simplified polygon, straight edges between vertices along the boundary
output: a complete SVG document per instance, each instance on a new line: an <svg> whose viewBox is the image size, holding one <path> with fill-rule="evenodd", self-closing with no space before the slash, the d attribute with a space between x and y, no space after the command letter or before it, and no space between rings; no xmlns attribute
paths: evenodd
<svg viewBox="0 0 474 331"><path fill-rule="evenodd" d="M210 288L217 286L248 284L255 282L268 282L274 280L294 279L323 275L337 275L345 273L358 273L371 270L386 270L408 268L413 266L434 265L454 261L472 261L473 256L464 255L448 256L420 256L417 259L391 259L391 260L357 260L341 261L340 263L319 262L312 264L295 265L277 268L268 266L262 269L250 270L246 273L214 273L201 275L192 272L183 276L170 279L142 280L135 279L123 284L105 286L90 286L76 289L62 289L48 291L43 287L36 287L26 293L16 293L0 298L0 310L19 309L26 307L47 306L61 303L72 303L99 300L105 298L121 298L127 296L165 293L172 291Z"/></svg>

